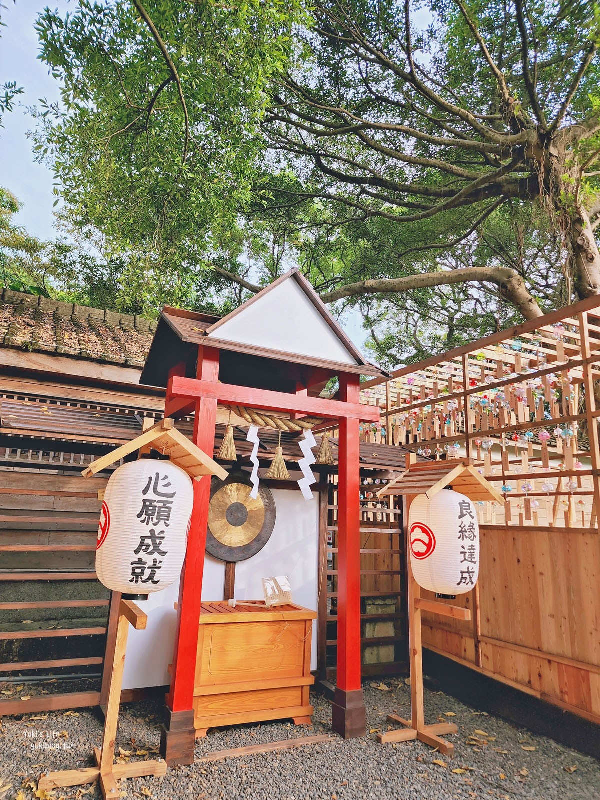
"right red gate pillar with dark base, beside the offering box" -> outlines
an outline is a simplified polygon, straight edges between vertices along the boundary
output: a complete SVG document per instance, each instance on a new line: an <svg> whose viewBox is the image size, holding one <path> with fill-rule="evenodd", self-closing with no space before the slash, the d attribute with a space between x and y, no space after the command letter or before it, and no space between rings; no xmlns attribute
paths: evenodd
<svg viewBox="0 0 600 800"><path fill-rule="evenodd" d="M340 376L339 399L360 402L358 375ZM338 681L334 730L344 738L366 734L361 684L360 422L340 418L338 485Z"/></svg>

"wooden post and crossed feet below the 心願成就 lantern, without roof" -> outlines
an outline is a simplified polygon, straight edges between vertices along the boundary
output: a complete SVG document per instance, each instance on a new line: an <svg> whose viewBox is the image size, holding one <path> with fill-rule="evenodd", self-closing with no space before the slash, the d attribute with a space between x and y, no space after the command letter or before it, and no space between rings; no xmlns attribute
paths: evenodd
<svg viewBox="0 0 600 800"><path fill-rule="evenodd" d="M80 770L62 770L42 774L38 782L38 791L50 791L65 786L84 786L100 780L102 796L118 798L118 781L126 778L145 778L166 775L166 761L140 761L131 764L114 763L114 742L117 738L118 708L121 702L123 670L127 649L129 626L135 630L145 630L148 622L147 614L130 600L122 600L119 606L117 644L114 648L114 660L110 675L110 689L106 705L102 747L94 747L96 766Z"/></svg>

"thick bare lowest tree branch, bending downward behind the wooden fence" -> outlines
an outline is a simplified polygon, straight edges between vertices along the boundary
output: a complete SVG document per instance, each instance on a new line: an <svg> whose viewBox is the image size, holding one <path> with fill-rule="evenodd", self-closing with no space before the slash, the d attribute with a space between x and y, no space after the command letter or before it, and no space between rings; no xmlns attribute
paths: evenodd
<svg viewBox="0 0 600 800"><path fill-rule="evenodd" d="M398 294L433 286L452 286L457 283L494 283L500 294L511 302L526 319L537 319L543 314L527 290L525 281L516 270L502 266L472 266L464 270L427 272L408 275L405 278L376 278L370 281L350 283L339 286L327 294L322 294L323 302L330 303L345 298L361 297L365 294Z"/></svg>

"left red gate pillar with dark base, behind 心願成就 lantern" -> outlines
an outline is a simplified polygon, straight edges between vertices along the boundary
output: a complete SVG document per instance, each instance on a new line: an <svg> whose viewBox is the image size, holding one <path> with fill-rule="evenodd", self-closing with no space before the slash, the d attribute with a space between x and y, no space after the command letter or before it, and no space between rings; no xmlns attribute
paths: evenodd
<svg viewBox="0 0 600 800"><path fill-rule="evenodd" d="M196 377L218 381L218 350L200 347ZM201 398L195 404L194 443L214 453L217 401ZM186 562L179 588L178 622L167 695L167 719L162 728L161 753L170 766L194 762L194 678L198 650L198 622L202 603L202 577L206 552L206 526L210 503L210 475L194 481L194 510L187 542Z"/></svg>

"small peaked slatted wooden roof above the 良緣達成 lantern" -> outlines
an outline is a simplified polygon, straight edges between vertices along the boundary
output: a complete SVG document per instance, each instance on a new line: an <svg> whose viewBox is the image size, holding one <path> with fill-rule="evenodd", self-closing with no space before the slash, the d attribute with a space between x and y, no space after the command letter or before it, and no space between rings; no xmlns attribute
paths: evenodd
<svg viewBox="0 0 600 800"><path fill-rule="evenodd" d="M376 494L379 498L390 494L426 494L431 499L442 489L446 489L446 486L474 502L504 502L502 494L474 467L473 458L410 464L406 472Z"/></svg>

